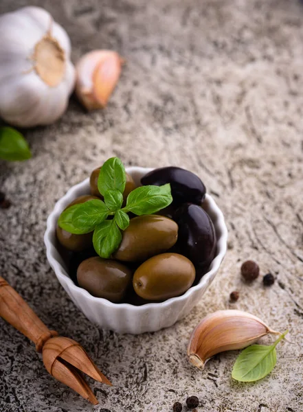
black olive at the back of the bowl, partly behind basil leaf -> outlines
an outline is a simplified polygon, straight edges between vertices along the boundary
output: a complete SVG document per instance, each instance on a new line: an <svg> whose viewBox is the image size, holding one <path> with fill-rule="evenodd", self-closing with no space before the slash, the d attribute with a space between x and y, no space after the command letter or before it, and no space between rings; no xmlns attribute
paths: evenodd
<svg viewBox="0 0 303 412"><path fill-rule="evenodd" d="M205 185L201 179L189 170L175 168L159 168L142 177L142 185L161 186L170 183L173 205L190 202L201 205L205 198Z"/></svg>

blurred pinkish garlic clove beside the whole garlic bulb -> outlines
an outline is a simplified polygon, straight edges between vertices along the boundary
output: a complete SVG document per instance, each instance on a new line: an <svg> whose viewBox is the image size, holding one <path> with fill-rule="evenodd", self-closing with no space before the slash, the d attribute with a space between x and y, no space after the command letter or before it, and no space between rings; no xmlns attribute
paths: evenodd
<svg viewBox="0 0 303 412"><path fill-rule="evenodd" d="M123 64L117 52L94 50L76 66L76 94L88 109L104 108L120 78Z"/></svg>

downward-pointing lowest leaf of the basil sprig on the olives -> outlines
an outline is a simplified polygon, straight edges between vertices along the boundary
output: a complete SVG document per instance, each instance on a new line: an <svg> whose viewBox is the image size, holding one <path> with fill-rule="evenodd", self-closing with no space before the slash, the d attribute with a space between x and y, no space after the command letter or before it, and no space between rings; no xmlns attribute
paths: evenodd
<svg viewBox="0 0 303 412"><path fill-rule="evenodd" d="M101 256L108 259L111 254L119 247L122 240L122 234L117 227L115 218L113 220L104 220L93 231L93 247Z"/></svg>

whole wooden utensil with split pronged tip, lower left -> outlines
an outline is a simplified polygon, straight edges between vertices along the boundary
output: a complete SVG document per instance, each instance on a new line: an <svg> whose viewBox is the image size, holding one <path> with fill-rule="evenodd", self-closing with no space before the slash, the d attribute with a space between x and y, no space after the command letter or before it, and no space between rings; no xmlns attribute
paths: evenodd
<svg viewBox="0 0 303 412"><path fill-rule="evenodd" d="M106 385L111 385L111 382L79 343L49 330L3 277L0 277L0 316L35 343L36 350L42 352L43 363L49 374L89 402L95 405L99 403L81 371Z"/></svg>

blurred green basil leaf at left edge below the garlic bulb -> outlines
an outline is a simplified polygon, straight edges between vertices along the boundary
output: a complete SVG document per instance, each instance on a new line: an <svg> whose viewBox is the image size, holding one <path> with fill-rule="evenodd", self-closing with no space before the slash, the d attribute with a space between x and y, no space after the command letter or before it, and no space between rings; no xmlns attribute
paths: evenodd
<svg viewBox="0 0 303 412"><path fill-rule="evenodd" d="M8 161L27 160L32 157L23 135L14 128L0 128L0 158Z"/></svg>

